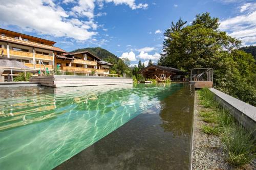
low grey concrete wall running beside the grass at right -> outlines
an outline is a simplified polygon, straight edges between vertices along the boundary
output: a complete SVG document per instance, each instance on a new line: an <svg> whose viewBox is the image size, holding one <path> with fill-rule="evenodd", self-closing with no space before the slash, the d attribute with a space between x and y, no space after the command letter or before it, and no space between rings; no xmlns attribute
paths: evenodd
<svg viewBox="0 0 256 170"><path fill-rule="evenodd" d="M217 89L210 88L215 94L216 100L240 122L249 132L256 128L256 107L251 106L243 101L233 98ZM256 131L253 132L256 136Z"/></svg>

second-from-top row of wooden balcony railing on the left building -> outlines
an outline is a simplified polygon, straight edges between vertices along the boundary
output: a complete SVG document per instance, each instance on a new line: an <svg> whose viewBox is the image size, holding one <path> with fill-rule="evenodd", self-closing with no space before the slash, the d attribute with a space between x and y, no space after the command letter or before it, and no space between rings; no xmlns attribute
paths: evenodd
<svg viewBox="0 0 256 170"><path fill-rule="evenodd" d="M7 55L7 49L0 48L0 51L2 50L3 50L3 55ZM33 58L33 53L10 50L10 56ZM44 59L44 60L53 60L53 56L42 55L42 54L35 54L35 58Z"/></svg>

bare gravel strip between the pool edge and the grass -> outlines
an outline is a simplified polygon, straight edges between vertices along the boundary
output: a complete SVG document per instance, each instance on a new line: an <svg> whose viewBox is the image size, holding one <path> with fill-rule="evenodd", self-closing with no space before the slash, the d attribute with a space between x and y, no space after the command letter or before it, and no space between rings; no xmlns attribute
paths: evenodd
<svg viewBox="0 0 256 170"><path fill-rule="evenodd" d="M253 169L250 165L234 168L227 163L227 153L218 136L207 135L201 131L203 122L198 115L200 110L206 110L199 105L197 91L195 92L194 140L193 140L193 169Z"/></svg>

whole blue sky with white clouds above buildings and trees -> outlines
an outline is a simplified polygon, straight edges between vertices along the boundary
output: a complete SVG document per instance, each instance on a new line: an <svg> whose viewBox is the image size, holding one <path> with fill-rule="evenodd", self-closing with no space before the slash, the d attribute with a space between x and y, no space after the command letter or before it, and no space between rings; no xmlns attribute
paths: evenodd
<svg viewBox="0 0 256 170"><path fill-rule="evenodd" d="M180 17L220 18L220 29L256 45L256 1L0 0L0 27L56 41L66 51L100 46L132 64L160 57L163 32Z"/></svg>

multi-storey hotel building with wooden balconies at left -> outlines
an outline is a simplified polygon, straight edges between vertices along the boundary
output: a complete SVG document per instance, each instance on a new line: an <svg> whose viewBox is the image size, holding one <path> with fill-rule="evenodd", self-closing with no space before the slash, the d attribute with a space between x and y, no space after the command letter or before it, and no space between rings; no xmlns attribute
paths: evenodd
<svg viewBox="0 0 256 170"><path fill-rule="evenodd" d="M61 72L74 72L96 76L108 75L111 63L102 61L89 52L68 53L54 46L55 42L5 30L0 28L0 67L5 72L22 71L38 72L40 63L44 63L47 70L58 68ZM5 59L5 62L2 62ZM8 59L13 63L23 63L24 68L8 65ZM5 64L3 64L5 63ZM6 65L7 63L7 65ZM41 64L42 67L42 64Z"/></svg>

